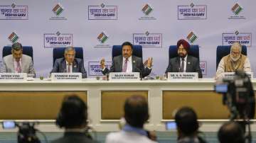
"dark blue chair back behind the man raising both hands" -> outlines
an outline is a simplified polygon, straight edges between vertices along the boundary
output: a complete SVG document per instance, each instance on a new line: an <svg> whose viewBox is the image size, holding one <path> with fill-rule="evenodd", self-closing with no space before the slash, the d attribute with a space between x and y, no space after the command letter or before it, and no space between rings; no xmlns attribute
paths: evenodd
<svg viewBox="0 0 256 143"><path fill-rule="evenodd" d="M122 55L122 45L113 45L112 59L119 55ZM132 55L142 58L142 45L133 45Z"/></svg>

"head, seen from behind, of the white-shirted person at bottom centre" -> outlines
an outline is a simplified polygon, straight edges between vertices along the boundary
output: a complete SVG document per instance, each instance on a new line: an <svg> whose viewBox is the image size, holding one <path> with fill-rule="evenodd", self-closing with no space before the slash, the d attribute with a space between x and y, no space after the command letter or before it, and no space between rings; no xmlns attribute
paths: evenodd
<svg viewBox="0 0 256 143"><path fill-rule="evenodd" d="M131 96L124 103L124 118L133 127L142 128L149 119L149 107L143 96Z"/></svg>

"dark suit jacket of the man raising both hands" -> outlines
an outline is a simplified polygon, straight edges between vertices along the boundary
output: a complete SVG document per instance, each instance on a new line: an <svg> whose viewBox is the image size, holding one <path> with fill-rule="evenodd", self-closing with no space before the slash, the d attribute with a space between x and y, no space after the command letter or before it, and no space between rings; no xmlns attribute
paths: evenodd
<svg viewBox="0 0 256 143"><path fill-rule="evenodd" d="M102 74L108 74L110 72L122 72L122 64L123 64L122 55L114 57L112 61L112 66L110 67L110 69L105 68L105 70L102 71ZM142 58L132 56L132 72L139 72L142 74L142 77L144 77L150 74L151 69L147 67L144 68L142 63Z"/></svg>

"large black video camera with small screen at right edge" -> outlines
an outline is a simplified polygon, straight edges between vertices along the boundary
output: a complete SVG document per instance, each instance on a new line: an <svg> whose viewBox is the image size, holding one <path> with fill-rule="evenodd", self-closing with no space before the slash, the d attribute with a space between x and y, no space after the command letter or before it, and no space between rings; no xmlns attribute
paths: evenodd
<svg viewBox="0 0 256 143"><path fill-rule="evenodd" d="M223 93L223 104L230 110L230 120L254 118L255 93L244 71L235 71L234 79L223 79L221 84L215 85L215 91Z"/></svg>

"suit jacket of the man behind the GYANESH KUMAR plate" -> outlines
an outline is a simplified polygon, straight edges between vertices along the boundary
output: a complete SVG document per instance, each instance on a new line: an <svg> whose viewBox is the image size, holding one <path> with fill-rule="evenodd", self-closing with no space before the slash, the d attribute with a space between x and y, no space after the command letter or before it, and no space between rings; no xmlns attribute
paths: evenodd
<svg viewBox="0 0 256 143"><path fill-rule="evenodd" d="M55 60L53 70L50 71L50 73L56 73L56 72L67 72L67 65L64 57ZM82 78L87 77L82 59L79 59L79 58L74 59L74 62L72 65L72 72L80 72L82 73Z"/></svg>

